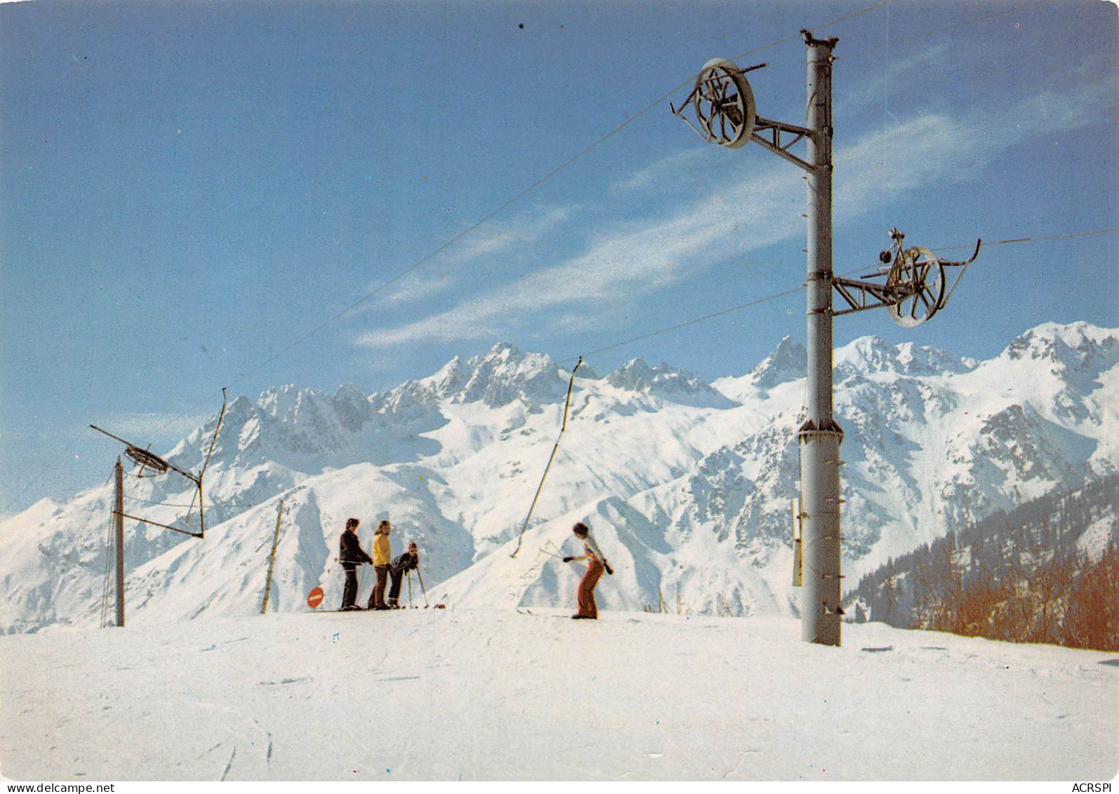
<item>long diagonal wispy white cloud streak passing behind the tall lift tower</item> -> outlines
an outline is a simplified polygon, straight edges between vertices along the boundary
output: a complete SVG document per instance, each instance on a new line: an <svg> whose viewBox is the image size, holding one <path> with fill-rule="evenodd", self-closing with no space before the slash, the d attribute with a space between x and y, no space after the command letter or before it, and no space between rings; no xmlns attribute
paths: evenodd
<svg viewBox="0 0 1119 794"><path fill-rule="evenodd" d="M972 178L990 158L1017 142L1098 119L1100 108L1111 102L1108 96L1107 85L1084 85L955 119L928 113L881 128L837 150L836 215L865 215L922 186ZM661 165L667 169L673 164ZM799 177L784 164L759 166L749 179L681 204L668 219L608 231L579 255L422 320L369 330L357 343L378 348L500 336L555 307L615 315L634 296L801 235L799 213L773 209L788 204Z"/></svg>

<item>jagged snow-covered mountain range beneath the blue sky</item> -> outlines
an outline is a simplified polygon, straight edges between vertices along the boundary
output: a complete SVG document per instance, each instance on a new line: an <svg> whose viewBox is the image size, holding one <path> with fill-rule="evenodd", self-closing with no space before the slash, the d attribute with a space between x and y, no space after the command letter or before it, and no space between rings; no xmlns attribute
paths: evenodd
<svg viewBox="0 0 1119 794"><path fill-rule="evenodd" d="M352 515L366 547L384 517L394 550L419 543L432 601L572 602L577 567L558 558L583 520L615 569L599 588L604 608L796 613L803 371L788 338L750 373L712 383L640 359L606 376L581 367L516 557L567 392L570 372L548 356L500 344L386 392L238 396L206 473L206 538L125 522L129 620L258 611L281 499L273 610L307 609L317 585L336 606L338 535ZM1119 329L1044 324L984 362L863 337L835 351L835 382L850 582L995 510L1119 468ZM216 422L166 457L197 471ZM125 478L125 512L153 522L197 526L191 495L176 475ZM97 624L111 502L105 485L0 522L0 628Z"/></svg>

